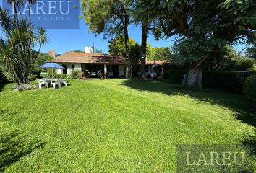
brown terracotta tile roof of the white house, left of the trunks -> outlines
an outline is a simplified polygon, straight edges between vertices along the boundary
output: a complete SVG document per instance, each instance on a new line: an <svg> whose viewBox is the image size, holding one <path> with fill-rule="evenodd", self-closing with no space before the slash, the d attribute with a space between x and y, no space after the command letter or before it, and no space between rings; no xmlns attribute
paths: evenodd
<svg viewBox="0 0 256 173"><path fill-rule="evenodd" d="M98 54L67 52L51 60L54 63L127 64L124 57Z"/></svg>

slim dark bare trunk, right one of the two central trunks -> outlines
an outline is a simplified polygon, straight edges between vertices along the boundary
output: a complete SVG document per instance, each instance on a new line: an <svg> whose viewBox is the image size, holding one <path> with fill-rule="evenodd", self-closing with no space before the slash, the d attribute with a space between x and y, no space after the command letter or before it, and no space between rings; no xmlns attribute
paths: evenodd
<svg viewBox="0 0 256 173"><path fill-rule="evenodd" d="M142 22L142 38L141 38L141 53L140 53L140 78L145 79L145 68L147 59L147 37L148 23Z"/></svg>

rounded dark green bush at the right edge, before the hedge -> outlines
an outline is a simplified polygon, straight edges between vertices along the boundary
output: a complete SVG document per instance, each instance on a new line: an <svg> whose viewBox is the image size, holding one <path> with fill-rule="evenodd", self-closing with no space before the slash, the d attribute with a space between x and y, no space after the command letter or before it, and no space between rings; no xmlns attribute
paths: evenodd
<svg viewBox="0 0 256 173"><path fill-rule="evenodd" d="M249 76L247 80L244 81L243 93L244 97L247 97L247 99L256 101L256 75Z"/></svg>

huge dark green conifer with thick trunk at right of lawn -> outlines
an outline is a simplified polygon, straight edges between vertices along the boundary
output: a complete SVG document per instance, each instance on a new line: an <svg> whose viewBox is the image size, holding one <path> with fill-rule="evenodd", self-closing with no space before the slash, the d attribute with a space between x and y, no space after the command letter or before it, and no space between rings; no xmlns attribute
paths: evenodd
<svg viewBox="0 0 256 173"><path fill-rule="evenodd" d="M191 64L187 86L202 87L205 61L228 43L255 41L255 0L137 0L140 15L153 18L157 37L179 36L174 46L179 63ZM162 35L160 35L162 33Z"/></svg>

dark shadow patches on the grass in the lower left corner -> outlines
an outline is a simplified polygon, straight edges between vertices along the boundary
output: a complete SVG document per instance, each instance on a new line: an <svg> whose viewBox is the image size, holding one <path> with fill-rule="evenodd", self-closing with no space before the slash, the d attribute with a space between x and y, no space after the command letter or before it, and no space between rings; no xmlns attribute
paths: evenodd
<svg viewBox="0 0 256 173"><path fill-rule="evenodd" d="M0 123L4 123L14 113L8 112L8 110L0 110L0 115ZM38 139L27 138L27 136L19 133L18 130L12 132L3 130L0 133L0 172L4 172L6 167L14 164L23 156L32 153L37 148L43 147L45 144L45 142Z"/></svg>

